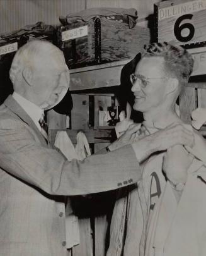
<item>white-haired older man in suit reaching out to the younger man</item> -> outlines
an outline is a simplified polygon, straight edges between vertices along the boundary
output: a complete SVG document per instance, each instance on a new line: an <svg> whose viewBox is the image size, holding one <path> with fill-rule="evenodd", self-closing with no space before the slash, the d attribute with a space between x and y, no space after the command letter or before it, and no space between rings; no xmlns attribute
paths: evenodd
<svg viewBox="0 0 206 256"><path fill-rule="evenodd" d="M10 78L14 94L0 107L2 256L66 255L62 195L130 185L140 179L139 162L152 152L193 144L193 133L178 125L117 149L120 142L129 143L137 130L133 126L110 145L109 150L117 150L66 161L47 143L42 118L43 111L55 106L69 87L62 52L49 42L28 42L16 52Z"/></svg>

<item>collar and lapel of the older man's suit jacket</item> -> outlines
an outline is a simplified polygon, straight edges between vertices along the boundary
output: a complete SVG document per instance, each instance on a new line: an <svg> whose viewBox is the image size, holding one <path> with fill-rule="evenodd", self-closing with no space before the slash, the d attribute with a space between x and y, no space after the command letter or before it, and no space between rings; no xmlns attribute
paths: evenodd
<svg viewBox="0 0 206 256"><path fill-rule="evenodd" d="M45 141L45 138L43 137L40 130L38 130L37 125L33 122L33 120L28 116L28 114L24 111L24 109L14 100L12 95L9 95L9 97L4 101L4 104L6 107L8 107L14 114L16 114L22 121L24 121L30 128L32 128L38 139L43 145L47 145L47 142Z"/></svg>

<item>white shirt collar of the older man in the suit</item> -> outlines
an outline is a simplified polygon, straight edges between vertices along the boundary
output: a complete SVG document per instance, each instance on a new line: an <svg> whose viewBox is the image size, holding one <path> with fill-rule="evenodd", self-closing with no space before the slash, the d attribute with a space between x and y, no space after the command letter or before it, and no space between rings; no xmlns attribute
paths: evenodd
<svg viewBox="0 0 206 256"><path fill-rule="evenodd" d="M20 106L23 108L24 111L30 116L32 121L37 125L38 130L41 131L41 126L38 123L40 120L42 114L43 114L43 109L35 105L33 102L28 101L24 97L22 97L20 94L17 94L16 92L13 93L13 98L20 104Z"/></svg>

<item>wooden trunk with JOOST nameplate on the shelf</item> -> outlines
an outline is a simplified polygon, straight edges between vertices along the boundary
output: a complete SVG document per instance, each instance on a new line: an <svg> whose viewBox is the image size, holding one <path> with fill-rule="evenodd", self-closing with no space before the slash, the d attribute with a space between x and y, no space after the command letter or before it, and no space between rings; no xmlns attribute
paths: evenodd
<svg viewBox="0 0 206 256"><path fill-rule="evenodd" d="M58 46L69 68L132 59L149 40L149 29L129 28L121 15L96 16L57 28Z"/></svg>

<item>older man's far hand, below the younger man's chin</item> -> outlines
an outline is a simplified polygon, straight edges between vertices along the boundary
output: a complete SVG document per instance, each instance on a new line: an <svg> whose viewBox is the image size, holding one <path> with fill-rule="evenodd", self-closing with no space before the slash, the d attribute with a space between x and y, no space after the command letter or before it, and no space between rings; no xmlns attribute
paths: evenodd
<svg viewBox="0 0 206 256"><path fill-rule="evenodd" d="M123 135L121 135L115 142L110 144L110 150L115 150L123 147L124 145L128 145L134 142L136 133L140 129L140 127L141 124L132 123L131 125L129 125L125 133L123 133Z"/></svg>

